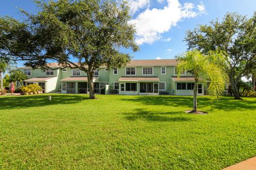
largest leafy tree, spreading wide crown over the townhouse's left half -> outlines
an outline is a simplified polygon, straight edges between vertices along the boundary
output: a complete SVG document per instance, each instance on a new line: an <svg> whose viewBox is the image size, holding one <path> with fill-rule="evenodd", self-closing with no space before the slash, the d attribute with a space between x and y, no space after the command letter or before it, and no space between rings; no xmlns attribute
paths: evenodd
<svg viewBox="0 0 256 170"><path fill-rule="evenodd" d="M94 70L102 65L109 69L121 67L131 60L131 55L122 49L138 50L126 2L59 0L36 3L38 13L22 11L27 16L25 22L2 18L3 25L7 25L0 36L4 55L11 60L25 60L26 65L33 68L45 69L47 62L57 61L62 69L70 67L84 71L92 99L95 98ZM22 35L10 36L17 31Z"/></svg>

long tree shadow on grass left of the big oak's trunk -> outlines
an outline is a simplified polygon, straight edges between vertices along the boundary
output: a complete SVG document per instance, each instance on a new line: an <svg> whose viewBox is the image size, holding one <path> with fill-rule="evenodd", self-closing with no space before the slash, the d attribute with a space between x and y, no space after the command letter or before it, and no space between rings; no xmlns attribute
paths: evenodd
<svg viewBox="0 0 256 170"><path fill-rule="evenodd" d="M87 96L82 95L51 95L52 100L47 98L50 95L29 95L29 96L8 96L0 98L0 110L1 109L16 109L16 108L28 108L39 107L47 105L58 104L77 104L78 102L88 99Z"/></svg>

